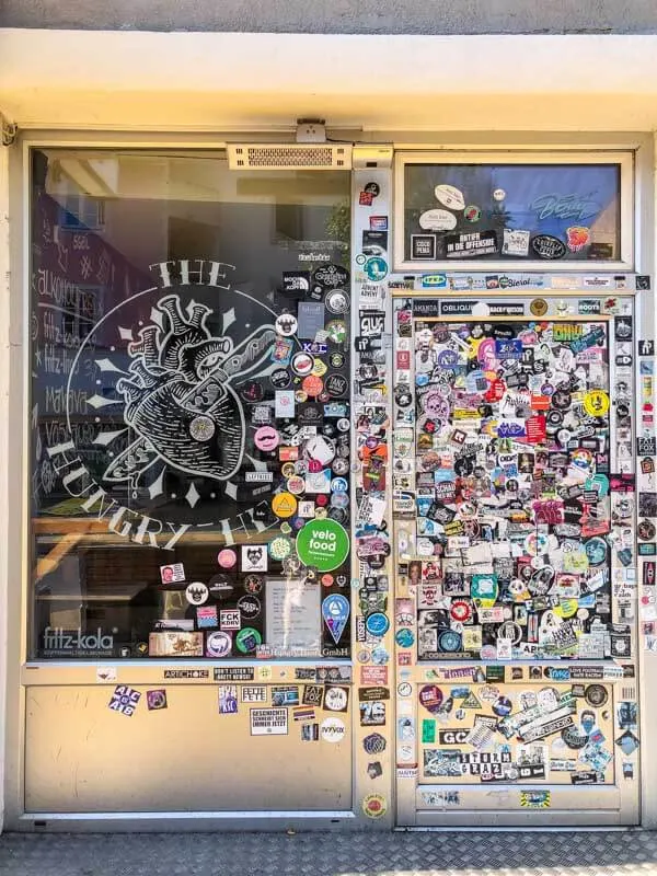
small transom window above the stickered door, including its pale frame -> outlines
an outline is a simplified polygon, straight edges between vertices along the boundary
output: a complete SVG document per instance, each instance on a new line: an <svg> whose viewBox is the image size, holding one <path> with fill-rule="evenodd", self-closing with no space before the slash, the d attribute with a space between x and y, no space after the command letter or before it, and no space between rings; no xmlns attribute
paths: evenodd
<svg viewBox="0 0 657 876"><path fill-rule="evenodd" d="M396 265L630 269L631 181L623 153L402 153Z"/></svg>

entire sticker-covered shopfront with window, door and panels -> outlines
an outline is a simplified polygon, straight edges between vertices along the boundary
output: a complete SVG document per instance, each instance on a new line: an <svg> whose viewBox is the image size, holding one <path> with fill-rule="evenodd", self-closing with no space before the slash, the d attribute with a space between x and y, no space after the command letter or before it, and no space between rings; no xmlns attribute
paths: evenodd
<svg viewBox="0 0 657 876"><path fill-rule="evenodd" d="M654 138L507 125L3 149L5 828L654 825Z"/></svg>

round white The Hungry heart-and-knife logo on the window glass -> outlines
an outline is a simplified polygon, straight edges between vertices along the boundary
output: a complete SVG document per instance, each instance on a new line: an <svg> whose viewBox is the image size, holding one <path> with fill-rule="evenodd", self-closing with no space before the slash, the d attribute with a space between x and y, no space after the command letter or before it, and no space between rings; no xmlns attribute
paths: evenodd
<svg viewBox="0 0 657 876"><path fill-rule="evenodd" d="M266 404L258 381L268 388L286 364L281 314L232 287L233 265L182 260L151 269L157 285L112 308L80 344L67 383L68 436L47 453L81 510L124 538L173 550L187 530L212 526L231 544L235 530L267 528L267 503L237 475L243 464L266 469L252 412ZM300 349L296 336L285 341L288 355ZM79 390L95 414L84 447L71 427ZM218 519L223 497L240 503L232 518Z"/></svg>

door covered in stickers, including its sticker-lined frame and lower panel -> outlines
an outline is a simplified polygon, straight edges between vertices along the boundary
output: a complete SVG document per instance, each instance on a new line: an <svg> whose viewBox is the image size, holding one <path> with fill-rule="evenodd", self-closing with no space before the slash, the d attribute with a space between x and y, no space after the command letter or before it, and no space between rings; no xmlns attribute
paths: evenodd
<svg viewBox="0 0 657 876"><path fill-rule="evenodd" d="M637 822L632 314L395 301L401 825Z"/></svg>

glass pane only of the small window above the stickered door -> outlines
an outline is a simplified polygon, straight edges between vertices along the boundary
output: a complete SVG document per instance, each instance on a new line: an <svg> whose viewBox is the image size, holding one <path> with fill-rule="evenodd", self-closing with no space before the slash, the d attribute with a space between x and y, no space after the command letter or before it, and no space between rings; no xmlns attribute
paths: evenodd
<svg viewBox="0 0 657 876"><path fill-rule="evenodd" d="M407 261L615 262L619 164L406 164Z"/></svg>

